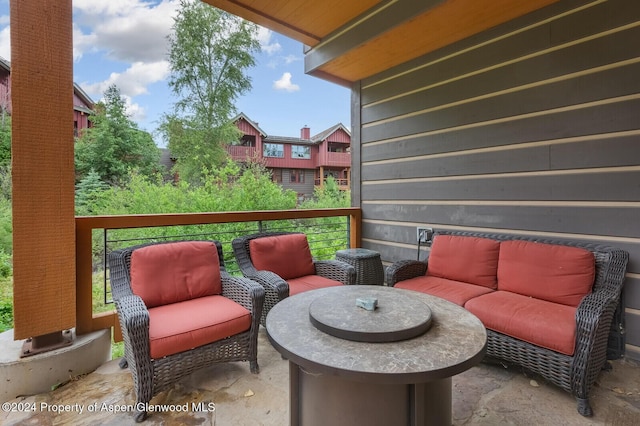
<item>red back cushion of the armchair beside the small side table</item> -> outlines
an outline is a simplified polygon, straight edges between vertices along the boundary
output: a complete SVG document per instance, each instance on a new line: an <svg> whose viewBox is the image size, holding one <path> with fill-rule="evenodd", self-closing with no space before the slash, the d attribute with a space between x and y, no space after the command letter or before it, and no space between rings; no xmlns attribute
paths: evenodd
<svg viewBox="0 0 640 426"><path fill-rule="evenodd" d="M256 269L274 272L284 280L316 273L304 234L255 238L249 241L249 255Z"/></svg>

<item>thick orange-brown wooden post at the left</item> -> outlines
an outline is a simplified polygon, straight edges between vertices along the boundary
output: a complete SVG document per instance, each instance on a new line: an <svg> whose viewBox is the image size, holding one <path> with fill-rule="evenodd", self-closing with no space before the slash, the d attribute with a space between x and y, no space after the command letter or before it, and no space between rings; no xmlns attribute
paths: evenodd
<svg viewBox="0 0 640 426"><path fill-rule="evenodd" d="M11 0L14 338L75 325L71 0Z"/></svg>

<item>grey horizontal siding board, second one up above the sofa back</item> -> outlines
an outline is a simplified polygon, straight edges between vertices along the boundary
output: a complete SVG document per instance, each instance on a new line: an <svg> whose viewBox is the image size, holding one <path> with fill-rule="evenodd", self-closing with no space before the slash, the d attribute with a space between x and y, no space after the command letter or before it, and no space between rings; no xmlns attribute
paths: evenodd
<svg viewBox="0 0 640 426"><path fill-rule="evenodd" d="M369 174L363 168L363 175ZM630 184L632 182L632 184ZM633 184L635 182L635 184ZM640 201L640 170L392 182L362 186L362 199L468 201ZM640 220L638 221L640 222Z"/></svg>

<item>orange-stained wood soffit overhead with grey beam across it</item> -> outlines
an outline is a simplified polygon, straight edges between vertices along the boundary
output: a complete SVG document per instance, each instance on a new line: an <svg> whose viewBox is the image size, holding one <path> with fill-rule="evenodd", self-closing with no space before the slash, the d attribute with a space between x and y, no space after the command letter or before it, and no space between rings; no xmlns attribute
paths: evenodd
<svg viewBox="0 0 640 426"><path fill-rule="evenodd" d="M204 0L305 44L305 72L345 86L558 0Z"/></svg>

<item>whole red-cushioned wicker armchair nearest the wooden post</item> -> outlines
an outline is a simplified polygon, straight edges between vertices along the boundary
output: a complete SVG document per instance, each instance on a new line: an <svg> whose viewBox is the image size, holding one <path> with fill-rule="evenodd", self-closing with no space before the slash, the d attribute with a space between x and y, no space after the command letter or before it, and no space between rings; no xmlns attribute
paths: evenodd
<svg viewBox="0 0 640 426"><path fill-rule="evenodd" d="M146 419L153 396L194 370L249 361L258 373L264 289L225 271L219 242L115 250L109 273L125 345L120 367L133 376L136 422Z"/></svg>

